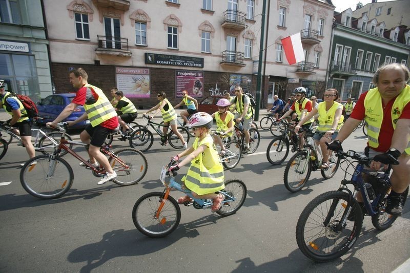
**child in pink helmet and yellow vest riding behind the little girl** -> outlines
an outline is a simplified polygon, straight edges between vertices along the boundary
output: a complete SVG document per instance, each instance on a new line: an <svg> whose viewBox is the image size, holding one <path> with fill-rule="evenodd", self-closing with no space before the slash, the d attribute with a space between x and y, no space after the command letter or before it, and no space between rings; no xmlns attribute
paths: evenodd
<svg viewBox="0 0 410 273"><path fill-rule="evenodd" d="M216 120L216 132L222 137L231 137L234 131L234 114L232 114L228 109L231 103L226 98L221 98L216 103L218 107L218 112L213 113L211 116ZM226 154L225 145L218 134L214 135L214 142L217 143L221 148L221 156Z"/></svg>

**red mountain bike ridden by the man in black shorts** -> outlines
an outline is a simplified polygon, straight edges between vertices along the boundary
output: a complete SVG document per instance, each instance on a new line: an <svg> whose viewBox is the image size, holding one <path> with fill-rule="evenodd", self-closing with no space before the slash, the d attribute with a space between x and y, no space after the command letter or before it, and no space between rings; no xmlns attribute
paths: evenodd
<svg viewBox="0 0 410 273"><path fill-rule="evenodd" d="M20 171L20 182L26 192L41 199L54 199L63 196L73 183L74 173L70 164L61 158L59 154L62 150L83 162L87 169L91 169L96 177L102 177L106 170L97 166L94 167L89 161L79 156L70 148L70 144L87 144L67 140L66 122L57 124L57 128L63 133L57 149L49 155L39 155L31 158L24 164ZM126 148L115 152L110 151L110 146L102 146L101 153L107 155L112 169L117 173L117 177L111 181L120 185L128 186L138 183L147 173L148 162L144 154L140 151Z"/></svg>

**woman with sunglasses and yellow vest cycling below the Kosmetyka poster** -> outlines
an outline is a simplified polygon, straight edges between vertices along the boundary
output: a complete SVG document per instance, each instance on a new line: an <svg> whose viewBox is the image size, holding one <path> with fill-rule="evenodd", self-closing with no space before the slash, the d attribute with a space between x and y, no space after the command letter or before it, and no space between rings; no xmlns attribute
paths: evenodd
<svg viewBox="0 0 410 273"><path fill-rule="evenodd" d="M155 117L156 114L158 114L159 111L161 111L162 118L163 118L163 124L166 125L163 127L163 134L167 135L168 132L168 125L171 125L171 129L174 132L175 135L178 136L178 138L181 140L183 144L183 148L187 149L187 142L185 142L185 139L183 139L183 136L181 133L179 133L177 125L176 125L176 119L177 115L175 113L174 108L172 107L171 103L167 99L167 94L165 92L159 92L157 94L157 99L159 100L159 103L148 110L147 112L144 113L144 115L147 115L148 113L155 111L155 113L152 115L152 117ZM167 145L167 140L161 138L161 145L165 146Z"/></svg>

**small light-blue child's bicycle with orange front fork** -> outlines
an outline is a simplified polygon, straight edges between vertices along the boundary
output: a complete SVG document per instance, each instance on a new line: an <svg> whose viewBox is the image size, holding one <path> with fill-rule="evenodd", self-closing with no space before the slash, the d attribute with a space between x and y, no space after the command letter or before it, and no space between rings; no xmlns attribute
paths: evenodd
<svg viewBox="0 0 410 273"><path fill-rule="evenodd" d="M174 171L172 176L167 171L175 164L172 160L167 167L163 166L160 180L165 186L163 192L152 192L141 196L132 208L132 220L135 227L142 234L152 237L165 237L172 233L181 220L181 210L178 202L170 195L171 189L176 189L185 193L193 199L192 202L184 203L185 206L193 206L196 209L205 209L212 206L212 199L196 199L187 188L175 181L177 173ZM169 179L166 179L169 176ZM166 181L168 180L168 181ZM225 182L225 188L219 192L224 196L221 207L217 214L229 216L238 211L245 202L247 187L241 180L232 179Z"/></svg>

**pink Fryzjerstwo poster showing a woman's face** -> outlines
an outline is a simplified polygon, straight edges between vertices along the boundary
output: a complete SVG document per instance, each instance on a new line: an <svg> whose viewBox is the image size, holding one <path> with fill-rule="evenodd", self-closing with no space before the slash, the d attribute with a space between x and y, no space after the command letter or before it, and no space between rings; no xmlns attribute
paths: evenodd
<svg viewBox="0 0 410 273"><path fill-rule="evenodd" d="M176 97L182 97L182 90L188 91L193 98L203 97L203 72L192 70L176 70L175 91Z"/></svg>

